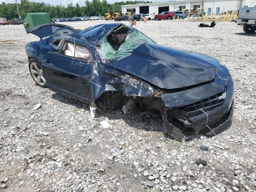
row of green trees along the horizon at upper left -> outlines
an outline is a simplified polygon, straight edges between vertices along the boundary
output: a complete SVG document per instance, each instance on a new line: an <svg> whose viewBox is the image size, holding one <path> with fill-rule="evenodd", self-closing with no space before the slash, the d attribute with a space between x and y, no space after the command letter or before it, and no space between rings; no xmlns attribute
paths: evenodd
<svg viewBox="0 0 256 192"><path fill-rule="evenodd" d="M85 6L80 6L78 3L73 5L72 3L64 6L62 4L53 6L44 2L29 2L28 0L21 0L18 4L20 17L23 18L26 13L33 12L46 12L50 14L51 18L69 18L69 17L81 17L81 16L104 16L109 10L121 10L122 5L137 4L137 3L152 3L149 1L126 1L115 2L109 4L107 0L86 0ZM6 18L7 20L19 18L16 4L10 4L2 2L0 4L0 18Z"/></svg>

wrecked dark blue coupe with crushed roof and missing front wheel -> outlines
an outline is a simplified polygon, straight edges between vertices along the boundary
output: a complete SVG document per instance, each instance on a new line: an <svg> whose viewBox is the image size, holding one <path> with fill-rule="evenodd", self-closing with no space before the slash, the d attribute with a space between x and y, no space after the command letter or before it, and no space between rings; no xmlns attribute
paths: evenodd
<svg viewBox="0 0 256 192"><path fill-rule="evenodd" d="M28 33L29 70L38 86L98 109L138 109L163 119L164 133L216 134L232 121L233 80L206 55L156 44L120 23L76 30L43 24Z"/></svg>

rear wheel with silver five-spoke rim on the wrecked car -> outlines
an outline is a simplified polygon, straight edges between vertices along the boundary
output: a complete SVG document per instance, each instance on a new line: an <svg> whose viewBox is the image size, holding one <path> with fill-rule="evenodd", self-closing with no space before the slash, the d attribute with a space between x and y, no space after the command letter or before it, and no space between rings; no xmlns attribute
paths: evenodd
<svg viewBox="0 0 256 192"><path fill-rule="evenodd" d="M46 87L46 80L44 78L41 64L31 58L28 62L28 68L32 79L36 82L36 85Z"/></svg>

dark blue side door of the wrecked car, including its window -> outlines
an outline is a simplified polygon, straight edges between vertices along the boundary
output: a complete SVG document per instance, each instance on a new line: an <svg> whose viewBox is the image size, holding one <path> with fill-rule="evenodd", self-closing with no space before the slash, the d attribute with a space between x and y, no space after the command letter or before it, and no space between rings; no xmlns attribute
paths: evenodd
<svg viewBox="0 0 256 192"><path fill-rule="evenodd" d="M69 48L68 48L69 47ZM42 70L46 78L46 85L70 94L84 102L92 100L90 79L92 77L94 61L90 51L85 46L63 40L58 52L48 52L42 61ZM73 48L73 50L72 50ZM80 57L81 52L90 56Z"/></svg>

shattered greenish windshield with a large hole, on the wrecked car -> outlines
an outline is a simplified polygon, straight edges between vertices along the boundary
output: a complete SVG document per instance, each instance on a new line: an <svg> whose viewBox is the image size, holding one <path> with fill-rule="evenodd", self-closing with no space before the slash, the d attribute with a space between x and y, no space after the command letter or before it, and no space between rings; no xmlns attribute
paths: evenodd
<svg viewBox="0 0 256 192"><path fill-rule="evenodd" d="M122 58L144 43L155 42L136 29L130 29L126 26L114 30L99 48L102 56L106 60L117 60Z"/></svg>

